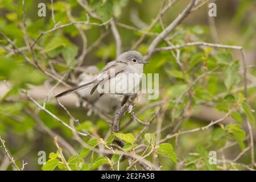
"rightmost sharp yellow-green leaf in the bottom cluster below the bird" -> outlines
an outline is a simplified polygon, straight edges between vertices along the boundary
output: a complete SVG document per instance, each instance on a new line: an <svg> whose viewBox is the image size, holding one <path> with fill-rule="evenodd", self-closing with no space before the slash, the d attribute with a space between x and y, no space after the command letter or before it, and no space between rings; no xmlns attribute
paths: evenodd
<svg viewBox="0 0 256 182"><path fill-rule="evenodd" d="M170 143L161 143L159 146L156 147L156 153L158 155L168 155L169 158L174 162L177 163L177 156L174 152L174 148Z"/></svg>

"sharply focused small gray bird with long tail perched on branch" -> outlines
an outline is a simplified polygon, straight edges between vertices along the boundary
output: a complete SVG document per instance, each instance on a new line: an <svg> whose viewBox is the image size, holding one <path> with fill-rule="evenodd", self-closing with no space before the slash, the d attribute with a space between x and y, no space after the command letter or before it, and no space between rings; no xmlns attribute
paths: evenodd
<svg viewBox="0 0 256 182"><path fill-rule="evenodd" d="M114 87L115 92L113 94L130 94L133 92L134 87L139 85L144 64L147 63L147 61L143 61L143 56L137 51L124 52L117 57L117 60L109 62L93 81L65 90L55 96L55 98L87 88L88 86L92 86L90 94L93 94L98 87L108 88L107 91L104 89L103 93L109 93L109 90ZM99 93L103 94L102 92Z"/></svg>

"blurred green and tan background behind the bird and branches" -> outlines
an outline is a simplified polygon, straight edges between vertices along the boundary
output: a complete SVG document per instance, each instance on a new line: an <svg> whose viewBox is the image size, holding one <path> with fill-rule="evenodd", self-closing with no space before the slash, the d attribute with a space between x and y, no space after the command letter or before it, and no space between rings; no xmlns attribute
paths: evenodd
<svg viewBox="0 0 256 182"><path fill-rule="evenodd" d="M30 36L30 40L28 40L26 39L26 27L23 24L22 1L0 0L0 31L31 60L34 57L29 49L29 44L34 42L41 32L72 21L85 21L88 16L90 23L97 24L114 17L122 42L122 51L136 49L145 55L155 36L162 32L162 28L167 27L190 1L171 1L175 3L163 14L162 24L155 23L150 31L147 31L148 27L158 16L159 10L168 5L168 1L88 1L89 8L100 15L102 21L90 15L86 16L86 10L79 1L53 1L55 23L52 19L51 1L44 1L46 17L38 16L38 4L41 2L26 1L26 26ZM85 3L85 1L81 2ZM189 14L168 35L168 40L172 44L208 42L242 46L245 50L248 73L246 100L251 107L250 113L255 118L255 1L214 2L217 5L216 17L208 16L209 1L207 1L199 9ZM138 46L134 47L142 36L145 38ZM98 102L100 109L95 109L92 105L86 104L86 101L81 102L81 98L77 94L60 98L60 103L67 107L72 117L79 120L80 124L77 124L70 119L71 116L67 111L52 98L53 94L64 91L68 86L60 83L56 85L58 81L44 72L48 71L51 75L63 79L68 85L76 86L82 81L81 73L87 73L88 66L94 65L101 70L106 63L114 60L116 55L116 42L109 23L104 26L74 24L43 35L34 46L34 56L43 72L28 64L24 60L24 56L15 51L15 48L8 43L6 37L0 35L0 40L3 40L0 44L0 136L5 139L6 146L19 167L22 166L22 160L24 160L28 163L25 170L40 170L42 165L38 164L38 152L45 151L48 159L49 153L57 150L53 142L55 136L59 136L59 140L67 142L65 146L62 146L63 153L67 158L72 153L80 152L82 148L81 143L77 142L71 130L36 106L35 102L32 102L20 90L27 90L27 93L36 102L45 106L47 110L64 122L74 126L76 130L86 131L99 138L109 135L111 130L106 119L112 120L121 99L105 98L106 101ZM162 42L159 46L168 46L168 44ZM82 55L83 53L85 55ZM234 104L238 105L236 107L238 116L233 114L236 116L225 118L221 125L214 125L207 130L166 140L165 142L174 146L177 163L160 157L159 163L163 166L162 169L255 169L255 166L250 166L251 150L245 119L246 112L239 104L244 84L241 52L209 47L181 48L179 59L184 65L184 73L175 61L176 53L176 51L174 53L170 51L154 53L149 60L150 64L145 67L145 73L159 73L159 98L158 100L148 100L146 94L139 95L138 100L135 101L137 107L134 108L134 112L142 121L150 121L152 115L160 106L163 106L147 133L155 134L159 143L168 134L196 129L223 118L225 113L234 107ZM239 61L236 62L237 60ZM234 62L240 63L240 65L227 76L229 74L227 70L229 67L233 68ZM207 75L196 82L192 89L189 89L189 94L185 94L175 105L177 98L188 88L188 85L210 70L214 70L214 74ZM85 77L93 74L97 73L89 72ZM102 106L108 107L108 110L102 109ZM255 119L250 119L255 141L256 131L253 120ZM143 127L140 123L133 121L130 114L127 113L121 120L123 133L132 133L137 136ZM156 132L159 127L160 129L165 128L165 130L160 133ZM82 140L86 142L88 138L82 137ZM61 143L63 145L63 142ZM143 138L138 139L137 144L141 143L143 143ZM3 148L0 149L0 170L12 170L13 167L10 165L5 151ZM206 161L208 151L212 150L217 151L217 159L220 160L220 163L210 166ZM138 154L141 154L139 148ZM147 159L154 164L157 163L154 155ZM233 164L223 163L224 159L233 161ZM85 159L86 162L90 160L90 158ZM120 169L126 169L127 165L127 160L123 160ZM110 168L105 165L97 169Z"/></svg>

